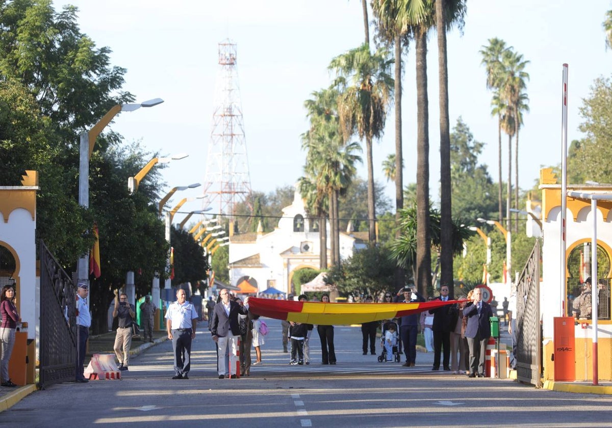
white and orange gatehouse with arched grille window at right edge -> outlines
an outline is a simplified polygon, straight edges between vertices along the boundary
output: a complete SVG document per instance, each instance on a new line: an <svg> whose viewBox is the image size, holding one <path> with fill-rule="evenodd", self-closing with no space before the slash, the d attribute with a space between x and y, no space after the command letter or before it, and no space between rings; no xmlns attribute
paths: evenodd
<svg viewBox="0 0 612 428"><path fill-rule="evenodd" d="M612 184L567 185L564 241L561 184L551 168L540 171L540 190L543 378L612 380Z"/></svg>

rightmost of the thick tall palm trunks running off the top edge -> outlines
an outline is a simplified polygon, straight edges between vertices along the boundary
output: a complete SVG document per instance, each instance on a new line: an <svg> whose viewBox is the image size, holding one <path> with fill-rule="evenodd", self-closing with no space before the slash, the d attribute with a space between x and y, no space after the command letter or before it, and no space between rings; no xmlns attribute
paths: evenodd
<svg viewBox="0 0 612 428"><path fill-rule="evenodd" d="M450 10L450 7L453 7ZM453 13L454 15L450 15ZM436 31L438 32L438 81L440 107L440 267L441 282L453 284L452 252L452 187L450 183L449 75L446 57L446 31L450 24L463 26L465 4L461 0L436 0ZM447 19L450 17L452 19ZM453 287L450 287L452 290ZM453 296L451 292L450 296Z"/></svg>

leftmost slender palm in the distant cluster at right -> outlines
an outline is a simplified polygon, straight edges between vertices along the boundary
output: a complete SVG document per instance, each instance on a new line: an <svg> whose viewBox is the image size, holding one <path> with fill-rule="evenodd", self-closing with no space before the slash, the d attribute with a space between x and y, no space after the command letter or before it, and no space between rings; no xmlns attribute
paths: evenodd
<svg viewBox="0 0 612 428"><path fill-rule="evenodd" d="M501 117L502 114L506 113L506 107L501 98L499 97L499 87L498 87L498 75L501 72L501 55L506 50L506 42L504 40L493 38L488 40L488 46L482 46L482 50L480 50L480 54L482 55L481 64L485 65L487 68L487 88L493 89L493 101L491 101L491 105L493 105L493 110L491 111L491 115L498 116L498 131L499 131L499 140L498 140L498 202L499 202L499 221L503 220L502 215L502 179L501 179Z"/></svg>

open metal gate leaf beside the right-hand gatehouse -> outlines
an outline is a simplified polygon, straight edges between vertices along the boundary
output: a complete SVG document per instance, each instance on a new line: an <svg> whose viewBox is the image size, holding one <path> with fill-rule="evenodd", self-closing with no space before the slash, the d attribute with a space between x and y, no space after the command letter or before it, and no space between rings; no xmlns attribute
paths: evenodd
<svg viewBox="0 0 612 428"><path fill-rule="evenodd" d="M542 386L540 243L535 242L517 281L517 379Z"/></svg>

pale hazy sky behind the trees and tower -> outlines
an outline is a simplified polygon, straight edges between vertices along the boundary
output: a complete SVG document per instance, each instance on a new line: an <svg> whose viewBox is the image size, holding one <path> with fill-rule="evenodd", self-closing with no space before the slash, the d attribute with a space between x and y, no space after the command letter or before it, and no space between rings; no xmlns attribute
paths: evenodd
<svg viewBox="0 0 612 428"><path fill-rule="evenodd" d="M127 69L124 90L137 101L163 98L149 109L122 113L110 126L126 141L141 141L162 156L185 152L188 158L163 169L173 186L204 183L215 106L218 43L237 44L237 72L244 114L251 188L269 193L293 185L302 175L305 152L300 135L307 130L304 101L328 87L327 66L364 40L359 0L91 0L54 1L78 7L81 31L98 47L113 51L111 64ZM602 22L608 0L577 2L469 0L463 34L447 35L450 125L458 117L474 138L484 142L479 162L498 177L498 122L491 117L491 92L479 51L498 37L529 61L526 92L530 112L520 130L519 185L531 188L542 166L561 163L562 64L569 64L568 144L581 138L579 108L594 79L610 76L612 51L606 51ZM373 18L370 12L370 20ZM373 26L370 26L373 37ZM416 182L416 80L414 45L404 56L403 156L405 185ZM438 50L436 34L428 43L430 193L439 193ZM374 144L375 180L386 185L382 163L394 153L394 113L390 109L383 138ZM354 138L357 141L357 138ZM507 137L502 136L502 177L507 177ZM365 155L365 147L364 153ZM514 153L513 155L514 156ZM148 161L144 160L144 161ZM514 161L512 161L514 164ZM367 177L365 163L358 168ZM514 177L514 172L512 172ZM514 179L514 178L513 178ZM176 193L198 196L200 189ZM201 208L188 202L181 212ZM177 215L175 221L181 221Z"/></svg>

